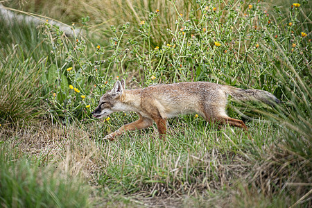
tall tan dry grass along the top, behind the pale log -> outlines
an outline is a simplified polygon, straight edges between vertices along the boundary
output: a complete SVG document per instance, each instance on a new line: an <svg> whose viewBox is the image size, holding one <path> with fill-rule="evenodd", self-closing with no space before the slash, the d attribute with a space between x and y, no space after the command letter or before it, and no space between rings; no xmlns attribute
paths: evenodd
<svg viewBox="0 0 312 208"><path fill-rule="evenodd" d="M103 36L111 37L110 26L121 26L126 22L132 25L132 32L137 33L140 21L148 20L150 12L159 10L159 17L152 25L152 44L157 46L168 42L168 33L164 33L167 28L175 28L177 12L170 1L157 0L135 0L135 1L24 1L6 2L5 6L25 10L28 12L40 13L46 17L58 19L64 23L81 26L82 17L90 17L87 24L89 31L97 40ZM185 9L187 8L187 10ZM189 11L196 10L196 1L180 1L177 3L177 10L184 17L188 17ZM131 33L131 31L130 31Z"/></svg>

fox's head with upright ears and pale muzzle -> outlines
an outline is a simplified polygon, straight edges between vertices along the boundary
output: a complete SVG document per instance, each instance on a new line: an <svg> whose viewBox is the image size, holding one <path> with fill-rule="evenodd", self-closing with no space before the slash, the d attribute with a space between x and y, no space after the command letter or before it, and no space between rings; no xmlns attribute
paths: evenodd
<svg viewBox="0 0 312 208"><path fill-rule="evenodd" d="M104 116L108 116L112 112L120 111L121 96L123 95L124 89L125 80L117 80L114 87L100 98L98 107L92 112L93 116L97 119L102 119Z"/></svg>

